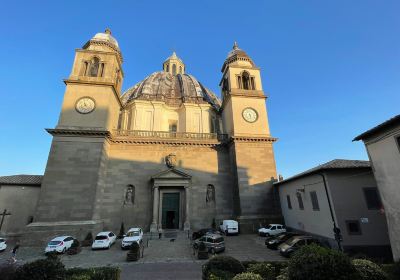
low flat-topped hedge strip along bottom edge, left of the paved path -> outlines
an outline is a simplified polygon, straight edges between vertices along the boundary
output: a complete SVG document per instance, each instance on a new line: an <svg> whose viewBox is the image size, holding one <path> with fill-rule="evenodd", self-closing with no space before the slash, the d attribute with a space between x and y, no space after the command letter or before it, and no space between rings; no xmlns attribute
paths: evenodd
<svg viewBox="0 0 400 280"><path fill-rule="evenodd" d="M119 267L71 268L66 272L66 280L119 280Z"/></svg>

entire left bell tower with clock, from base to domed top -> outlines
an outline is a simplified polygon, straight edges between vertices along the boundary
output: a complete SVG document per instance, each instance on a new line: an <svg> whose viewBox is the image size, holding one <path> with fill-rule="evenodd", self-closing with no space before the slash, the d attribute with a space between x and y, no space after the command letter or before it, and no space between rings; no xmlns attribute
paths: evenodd
<svg viewBox="0 0 400 280"><path fill-rule="evenodd" d="M109 136L117 128L123 79L122 55L107 29L76 50L53 136L35 221L36 240L68 234L78 239L103 228ZM44 234L46 233L46 234ZM32 240L35 240L33 238Z"/></svg>

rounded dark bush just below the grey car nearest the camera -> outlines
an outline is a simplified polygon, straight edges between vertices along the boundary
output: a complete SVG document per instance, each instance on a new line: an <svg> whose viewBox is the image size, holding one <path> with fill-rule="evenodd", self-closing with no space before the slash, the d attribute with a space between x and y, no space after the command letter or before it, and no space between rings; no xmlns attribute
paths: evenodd
<svg viewBox="0 0 400 280"><path fill-rule="evenodd" d="M215 276L229 277L231 279L236 274L244 272L244 267L240 261L229 256L216 256L203 265L203 279L208 279L210 274ZM224 279L224 278L222 278Z"/></svg>

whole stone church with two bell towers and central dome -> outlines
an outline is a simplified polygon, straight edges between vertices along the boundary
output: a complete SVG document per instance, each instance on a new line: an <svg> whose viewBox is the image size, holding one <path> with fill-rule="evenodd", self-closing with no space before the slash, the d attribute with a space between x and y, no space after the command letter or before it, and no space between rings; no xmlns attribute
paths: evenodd
<svg viewBox="0 0 400 280"><path fill-rule="evenodd" d="M173 53L121 92L122 53L109 30L76 50L29 234L83 238L121 223L195 230L279 220L276 167L260 69L237 44L218 98Z"/></svg>

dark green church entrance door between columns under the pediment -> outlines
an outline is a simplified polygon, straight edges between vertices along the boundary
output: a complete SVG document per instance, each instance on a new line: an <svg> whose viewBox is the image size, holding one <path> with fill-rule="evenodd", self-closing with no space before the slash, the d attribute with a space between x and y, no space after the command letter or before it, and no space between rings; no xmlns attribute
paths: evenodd
<svg viewBox="0 0 400 280"><path fill-rule="evenodd" d="M164 193L162 197L162 227L179 228L179 192Z"/></svg>

